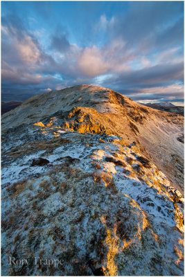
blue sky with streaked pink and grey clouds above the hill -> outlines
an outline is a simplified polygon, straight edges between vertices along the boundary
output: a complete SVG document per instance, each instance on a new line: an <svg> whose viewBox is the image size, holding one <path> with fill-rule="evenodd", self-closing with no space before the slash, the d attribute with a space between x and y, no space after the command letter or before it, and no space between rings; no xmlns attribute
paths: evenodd
<svg viewBox="0 0 185 277"><path fill-rule="evenodd" d="M184 1L1 1L1 100L76 84L184 103Z"/></svg>

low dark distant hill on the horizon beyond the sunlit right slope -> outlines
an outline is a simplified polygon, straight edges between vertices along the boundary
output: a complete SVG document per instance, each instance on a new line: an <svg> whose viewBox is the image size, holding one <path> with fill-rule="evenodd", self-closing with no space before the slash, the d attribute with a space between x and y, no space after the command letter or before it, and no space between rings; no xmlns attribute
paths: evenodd
<svg viewBox="0 0 185 277"><path fill-rule="evenodd" d="M159 111L168 111L173 114L180 114L181 116L184 116L184 107L182 106L175 106L170 102L160 102L160 103L147 103L145 106L150 107L152 109L159 109Z"/></svg>

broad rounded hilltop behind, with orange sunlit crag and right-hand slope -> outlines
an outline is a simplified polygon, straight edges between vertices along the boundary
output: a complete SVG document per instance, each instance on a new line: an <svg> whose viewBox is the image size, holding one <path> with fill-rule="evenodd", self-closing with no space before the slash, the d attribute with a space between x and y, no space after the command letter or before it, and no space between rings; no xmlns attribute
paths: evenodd
<svg viewBox="0 0 185 277"><path fill-rule="evenodd" d="M89 85L34 96L2 116L6 131L56 116L58 123L79 132L105 132L133 141L172 184L184 190L184 118L134 102L116 91ZM23 120L24 118L24 120Z"/></svg>

